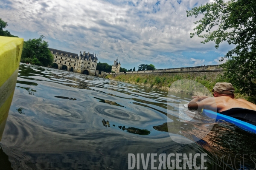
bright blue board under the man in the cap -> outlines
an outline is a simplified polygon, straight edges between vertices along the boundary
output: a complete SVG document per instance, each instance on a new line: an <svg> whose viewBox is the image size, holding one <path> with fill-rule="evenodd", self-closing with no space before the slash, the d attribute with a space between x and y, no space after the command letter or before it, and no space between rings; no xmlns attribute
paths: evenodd
<svg viewBox="0 0 256 170"><path fill-rule="evenodd" d="M216 117L216 121L217 121L217 120L224 120L224 121L233 123L233 124L235 124L235 125L241 127L241 128L244 129L244 130L248 130L248 131L251 131L251 132L253 132L253 133L256 133L256 126L255 126L255 125L252 125L252 124L250 124L250 123L241 121L241 120L239 120L239 119L236 119L236 118L233 118L233 117L230 117L230 116L226 116L226 115L221 114L221 113L216 113L216 112L214 112L214 111L206 110L206 109L204 109L203 112L204 112L207 116L209 116L210 118L215 119L215 117Z"/></svg>

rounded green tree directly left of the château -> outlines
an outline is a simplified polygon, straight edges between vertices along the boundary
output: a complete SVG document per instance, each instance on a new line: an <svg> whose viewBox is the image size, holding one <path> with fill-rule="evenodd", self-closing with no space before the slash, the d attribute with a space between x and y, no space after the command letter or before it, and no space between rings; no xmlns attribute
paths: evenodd
<svg viewBox="0 0 256 170"><path fill-rule="evenodd" d="M21 62L30 61L32 64L47 67L52 65L53 55L49 51L48 42L41 35L39 38L24 41Z"/></svg>

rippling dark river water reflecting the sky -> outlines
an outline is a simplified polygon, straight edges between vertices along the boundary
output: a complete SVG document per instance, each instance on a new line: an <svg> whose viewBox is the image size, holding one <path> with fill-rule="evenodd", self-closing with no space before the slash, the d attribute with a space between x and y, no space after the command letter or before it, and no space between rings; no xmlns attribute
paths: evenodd
<svg viewBox="0 0 256 170"><path fill-rule="evenodd" d="M0 169L125 170L128 153L182 153L181 160L206 153L207 169L256 167L256 135L228 122L217 122L198 142L174 142L165 127L167 98L179 103L191 96L20 64ZM183 161L178 164L183 167Z"/></svg>

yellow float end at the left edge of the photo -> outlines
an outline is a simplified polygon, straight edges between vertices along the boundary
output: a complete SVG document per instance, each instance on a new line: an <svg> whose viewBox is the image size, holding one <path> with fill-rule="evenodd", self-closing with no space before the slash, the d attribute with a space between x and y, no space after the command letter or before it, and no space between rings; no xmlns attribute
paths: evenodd
<svg viewBox="0 0 256 170"><path fill-rule="evenodd" d="M0 36L0 141L17 82L23 39Z"/></svg>

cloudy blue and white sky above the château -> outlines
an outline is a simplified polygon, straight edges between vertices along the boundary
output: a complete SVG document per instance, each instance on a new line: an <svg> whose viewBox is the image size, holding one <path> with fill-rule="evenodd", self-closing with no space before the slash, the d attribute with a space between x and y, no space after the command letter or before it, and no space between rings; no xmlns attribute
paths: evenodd
<svg viewBox="0 0 256 170"><path fill-rule="evenodd" d="M216 50L213 42L191 39L198 18L186 17L186 10L209 1L1 0L0 18L24 40L43 34L50 48L94 52L111 65L118 57L126 69L215 65L232 47Z"/></svg>

